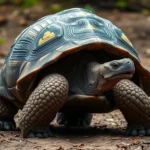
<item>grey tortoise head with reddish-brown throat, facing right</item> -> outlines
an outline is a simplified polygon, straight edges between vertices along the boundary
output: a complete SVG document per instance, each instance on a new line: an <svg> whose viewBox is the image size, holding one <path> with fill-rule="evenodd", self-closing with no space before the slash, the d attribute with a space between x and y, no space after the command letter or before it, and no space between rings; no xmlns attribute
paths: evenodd
<svg viewBox="0 0 150 150"><path fill-rule="evenodd" d="M113 60L101 64L100 74L104 81L99 84L100 91L104 92L108 89L112 89L114 85L122 79L132 78L134 72L134 63L129 58Z"/></svg>

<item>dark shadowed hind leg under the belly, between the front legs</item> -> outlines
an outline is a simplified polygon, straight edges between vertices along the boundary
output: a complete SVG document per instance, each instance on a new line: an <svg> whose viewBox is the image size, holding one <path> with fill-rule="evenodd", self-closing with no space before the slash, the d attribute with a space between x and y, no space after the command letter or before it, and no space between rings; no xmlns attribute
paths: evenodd
<svg viewBox="0 0 150 150"><path fill-rule="evenodd" d="M57 114L57 123L66 126L88 127L92 121L92 116L92 113L61 112Z"/></svg>

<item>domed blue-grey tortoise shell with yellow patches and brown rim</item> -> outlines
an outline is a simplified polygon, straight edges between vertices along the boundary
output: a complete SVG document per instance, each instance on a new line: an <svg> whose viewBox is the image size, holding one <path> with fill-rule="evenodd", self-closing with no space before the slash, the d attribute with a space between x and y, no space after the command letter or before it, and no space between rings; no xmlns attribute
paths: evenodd
<svg viewBox="0 0 150 150"><path fill-rule="evenodd" d="M131 58L140 86L150 96L150 73L126 35L110 21L81 8L48 15L21 32L2 67L0 95L24 102L42 68L83 49Z"/></svg>

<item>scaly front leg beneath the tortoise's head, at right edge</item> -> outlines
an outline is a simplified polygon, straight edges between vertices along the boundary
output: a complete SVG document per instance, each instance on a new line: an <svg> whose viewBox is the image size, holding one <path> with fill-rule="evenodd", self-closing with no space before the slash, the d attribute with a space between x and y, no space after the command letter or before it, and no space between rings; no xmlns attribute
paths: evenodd
<svg viewBox="0 0 150 150"><path fill-rule="evenodd" d="M150 135L150 98L145 92L130 80L121 80L113 93L128 122L128 135Z"/></svg>

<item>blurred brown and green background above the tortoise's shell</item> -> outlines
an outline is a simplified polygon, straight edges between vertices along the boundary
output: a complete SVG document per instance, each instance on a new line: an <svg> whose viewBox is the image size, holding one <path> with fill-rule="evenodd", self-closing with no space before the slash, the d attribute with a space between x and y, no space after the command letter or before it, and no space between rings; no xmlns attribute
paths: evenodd
<svg viewBox="0 0 150 150"><path fill-rule="evenodd" d="M121 28L150 70L150 0L0 0L0 66L24 28L73 7L91 10Z"/></svg>

